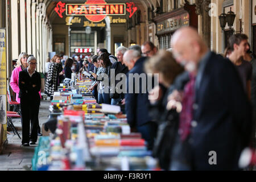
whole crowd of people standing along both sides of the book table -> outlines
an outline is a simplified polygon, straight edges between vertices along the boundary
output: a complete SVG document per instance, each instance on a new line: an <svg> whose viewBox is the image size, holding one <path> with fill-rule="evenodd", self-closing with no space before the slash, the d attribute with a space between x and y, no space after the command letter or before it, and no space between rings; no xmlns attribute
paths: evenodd
<svg viewBox="0 0 256 182"><path fill-rule="evenodd" d="M242 150L255 148L256 58L247 39L244 34L232 35L222 56L210 51L195 29L185 27L172 36L168 51L159 51L153 43L145 42L142 46L118 47L117 57L106 49L86 59L76 55L63 61L55 55L47 64L45 93L52 96L72 73L89 72L93 80L89 90L97 103L122 107L131 131L142 134L162 169L240 170ZM30 67L35 59L27 57L26 53L20 55L13 83L23 82L17 76L27 65L29 75L34 71ZM110 82L119 73L125 75L126 84L121 90L125 86L127 92L117 92L123 77ZM146 81L134 77L142 74L158 74L158 84L155 77L146 77ZM102 75L108 76L108 82ZM143 92L151 78L153 88ZM19 93L17 88L24 93L22 84L11 86L15 93ZM38 97L38 86L39 82L33 82L26 88L27 93L34 92ZM22 110L23 114L26 111ZM31 122L38 125L33 116ZM216 160L210 161L213 153Z"/></svg>

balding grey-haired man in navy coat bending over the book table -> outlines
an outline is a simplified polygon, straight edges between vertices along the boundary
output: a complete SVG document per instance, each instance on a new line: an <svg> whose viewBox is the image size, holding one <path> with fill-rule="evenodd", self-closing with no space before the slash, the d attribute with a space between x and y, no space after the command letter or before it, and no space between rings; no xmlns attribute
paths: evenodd
<svg viewBox="0 0 256 182"><path fill-rule="evenodd" d="M143 64L146 57L141 57L141 53L136 50L128 50L123 55L123 61L130 70L127 73L127 93L125 94L125 110L127 122L132 131L138 131L142 138L148 143L148 150L154 146L156 125L151 122L148 114L148 90L147 80L135 79L136 74L144 73ZM130 89L132 88L132 89ZM139 88L138 90L136 88ZM137 90L137 92L136 92ZM139 92L138 92L139 91Z"/></svg>

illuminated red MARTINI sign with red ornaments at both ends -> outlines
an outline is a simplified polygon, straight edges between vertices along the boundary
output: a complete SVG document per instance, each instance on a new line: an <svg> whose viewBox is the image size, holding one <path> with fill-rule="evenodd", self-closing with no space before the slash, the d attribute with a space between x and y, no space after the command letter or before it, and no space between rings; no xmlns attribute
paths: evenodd
<svg viewBox="0 0 256 182"><path fill-rule="evenodd" d="M85 16L92 22L101 22L108 15L126 15L126 11L131 18L137 9L133 2L106 3L104 0L88 0L84 4L65 4L60 1L55 7L60 18L63 18L62 14L66 11L67 16Z"/></svg>

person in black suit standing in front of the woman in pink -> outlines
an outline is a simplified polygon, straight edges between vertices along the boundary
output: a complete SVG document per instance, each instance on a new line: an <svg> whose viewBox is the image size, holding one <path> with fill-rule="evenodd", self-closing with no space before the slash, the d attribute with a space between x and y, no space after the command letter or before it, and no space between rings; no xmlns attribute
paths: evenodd
<svg viewBox="0 0 256 182"><path fill-rule="evenodd" d="M22 113L22 145L30 146L36 144L38 139L38 113L40 106L39 91L41 88L41 77L36 69L36 58L28 57L27 69L19 72L19 98ZM30 136L31 121L31 136ZM30 142L30 143L29 143Z"/></svg>

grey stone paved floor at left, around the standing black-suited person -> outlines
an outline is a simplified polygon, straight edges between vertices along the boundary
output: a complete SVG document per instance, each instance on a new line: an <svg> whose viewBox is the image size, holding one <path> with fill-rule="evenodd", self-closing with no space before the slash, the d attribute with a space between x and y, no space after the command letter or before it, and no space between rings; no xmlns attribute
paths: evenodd
<svg viewBox="0 0 256 182"><path fill-rule="evenodd" d="M41 101L39 110L39 125L42 131L42 125L48 120L49 101ZM14 126L22 137L22 126L20 119L13 119ZM21 139L18 135L14 135L13 131L7 134L8 145L0 155L0 171L26 171L31 170L31 159L34 155L35 146L22 147ZM39 138L38 138L39 141Z"/></svg>

